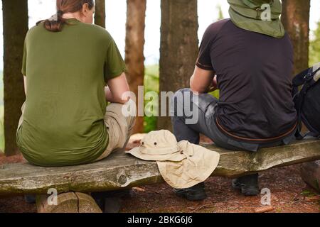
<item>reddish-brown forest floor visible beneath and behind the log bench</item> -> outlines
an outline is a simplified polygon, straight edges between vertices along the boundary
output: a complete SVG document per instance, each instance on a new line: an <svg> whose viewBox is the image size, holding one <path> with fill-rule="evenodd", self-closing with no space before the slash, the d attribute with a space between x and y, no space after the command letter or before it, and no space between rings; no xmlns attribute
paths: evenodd
<svg viewBox="0 0 320 227"><path fill-rule="evenodd" d="M142 135L134 136L128 149L139 144ZM204 143L210 142L202 138ZM25 162L21 155L4 157L0 155L0 165ZM260 187L271 191L273 213L320 213L320 195L301 179L300 165L267 170L260 174ZM177 197L168 184L135 187L131 196L122 199L121 212L124 213L255 213L262 206L259 196L243 196L231 187L231 180L210 177L206 181L208 198L203 201L186 201ZM0 212L36 212L36 206L26 204L23 196L0 197Z"/></svg>

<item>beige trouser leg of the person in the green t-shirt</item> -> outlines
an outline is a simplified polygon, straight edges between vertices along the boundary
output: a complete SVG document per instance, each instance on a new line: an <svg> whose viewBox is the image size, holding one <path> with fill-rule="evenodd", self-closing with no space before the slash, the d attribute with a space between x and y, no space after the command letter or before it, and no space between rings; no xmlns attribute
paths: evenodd
<svg viewBox="0 0 320 227"><path fill-rule="evenodd" d="M134 105L135 106L135 105ZM105 114L105 124L108 128L109 143L105 152L95 161L99 161L109 156L111 153L124 150L132 133L135 122L135 110L130 116L122 114L122 104L110 104L107 106Z"/></svg>

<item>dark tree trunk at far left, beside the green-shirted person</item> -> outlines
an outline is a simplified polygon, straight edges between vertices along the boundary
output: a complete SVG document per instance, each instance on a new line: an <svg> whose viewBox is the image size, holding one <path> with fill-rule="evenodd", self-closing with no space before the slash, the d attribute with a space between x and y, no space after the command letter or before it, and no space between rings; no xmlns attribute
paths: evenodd
<svg viewBox="0 0 320 227"><path fill-rule="evenodd" d="M26 96L21 65L28 31L28 1L3 0L4 18L4 138L6 155L18 153L16 129Z"/></svg>

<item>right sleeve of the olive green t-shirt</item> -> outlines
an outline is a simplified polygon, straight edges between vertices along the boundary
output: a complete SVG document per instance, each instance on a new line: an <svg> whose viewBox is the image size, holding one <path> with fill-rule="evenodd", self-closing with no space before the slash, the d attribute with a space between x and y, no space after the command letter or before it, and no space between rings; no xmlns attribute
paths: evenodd
<svg viewBox="0 0 320 227"><path fill-rule="evenodd" d="M116 43L112 39L107 48L107 55L105 58L105 82L110 79L119 77L122 72L126 71L126 65L117 48Z"/></svg>

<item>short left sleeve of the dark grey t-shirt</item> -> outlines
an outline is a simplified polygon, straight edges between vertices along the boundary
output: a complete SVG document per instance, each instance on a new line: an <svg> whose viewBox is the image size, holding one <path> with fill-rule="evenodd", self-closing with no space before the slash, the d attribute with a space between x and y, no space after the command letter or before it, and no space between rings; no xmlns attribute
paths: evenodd
<svg viewBox="0 0 320 227"><path fill-rule="evenodd" d="M201 41L198 60L196 65L203 70L213 70L210 51L213 40L213 34L211 27L207 28L206 33L203 35Z"/></svg>

